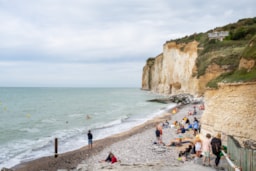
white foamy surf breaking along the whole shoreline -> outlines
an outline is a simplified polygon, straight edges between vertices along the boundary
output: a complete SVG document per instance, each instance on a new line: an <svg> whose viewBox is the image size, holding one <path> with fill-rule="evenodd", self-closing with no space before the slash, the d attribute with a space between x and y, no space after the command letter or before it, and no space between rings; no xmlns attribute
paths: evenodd
<svg viewBox="0 0 256 171"><path fill-rule="evenodd" d="M103 126L100 123L94 123L89 127L82 128L72 128L72 129L62 129L56 132L53 132L49 137L42 137L38 140L22 140L15 143L9 144L8 147L1 147L0 150L3 153L0 155L0 159L5 159L0 163L0 168L2 167L13 167L20 162L33 160L43 156L54 155L54 139L57 137L59 140L59 153L65 153L71 150L75 150L87 145L87 131L92 129L94 135L94 140L103 139L114 134L122 133L130 130L131 128L145 123L147 120L150 120L156 116L162 114L165 110L173 108L175 105L171 104L165 109L158 110L153 113L143 115L143 118L129 118L127 115L124 115L116 120L110 121L109 123L103 123ZM77 117L78 115L72 115L71 117ZM42 122L44 123L53 123L55 119L45 119ZM36 132L36 129L24 128L23 131L27 132ZM8 149L5 150L4 149ZM12 151L12 153L10 153Z"/></svg>

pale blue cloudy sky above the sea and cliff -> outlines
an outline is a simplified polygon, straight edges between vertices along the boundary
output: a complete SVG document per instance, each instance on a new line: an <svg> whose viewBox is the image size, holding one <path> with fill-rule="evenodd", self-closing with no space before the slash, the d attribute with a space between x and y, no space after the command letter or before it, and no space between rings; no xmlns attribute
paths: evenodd
<svg viewBox="0 0 256 171"><path fill-rule="evenodd" d="M255 0L0 0L0 87L140 88L166 41L255 16Z"/></svg>

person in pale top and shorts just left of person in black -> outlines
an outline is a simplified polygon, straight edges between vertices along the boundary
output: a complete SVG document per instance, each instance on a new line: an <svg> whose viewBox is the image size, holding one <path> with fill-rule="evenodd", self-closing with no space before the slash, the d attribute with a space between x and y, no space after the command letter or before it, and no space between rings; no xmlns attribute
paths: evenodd
<svg viewBox="0 0 256 171"><path fill-rule="evenodd" d="M211 134L206 134L206 138L203 139L202 143L202 153L203 153L203 166L206 165L206 160L208 161L208 166L211 166L210 164L210 152L211 152Z"/></svg>

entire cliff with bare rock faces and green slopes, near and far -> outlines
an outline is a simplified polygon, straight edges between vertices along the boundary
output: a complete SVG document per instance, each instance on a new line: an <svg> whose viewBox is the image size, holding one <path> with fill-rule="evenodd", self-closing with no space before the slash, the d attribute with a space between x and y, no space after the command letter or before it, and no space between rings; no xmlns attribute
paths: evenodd
<svg viewBox="0 0 256 171"><path fill-rule="evenodd" d="M142 89L204 96L203 131L256 141L256 17L167 41L146 61Z"/></svg>

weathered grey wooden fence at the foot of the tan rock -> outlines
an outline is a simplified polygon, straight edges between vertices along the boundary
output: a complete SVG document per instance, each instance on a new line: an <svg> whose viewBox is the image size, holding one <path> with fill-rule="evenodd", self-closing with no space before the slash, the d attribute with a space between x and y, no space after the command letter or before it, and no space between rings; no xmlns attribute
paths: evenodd
<svg viewBox="0 0 256 171"><path fill-rule="evenodd" d="M256 171L256 150L242 148L237 140L228 136L227 152L233 163L242 171ZM230 166L229 171L234 171Z"/></svg>

